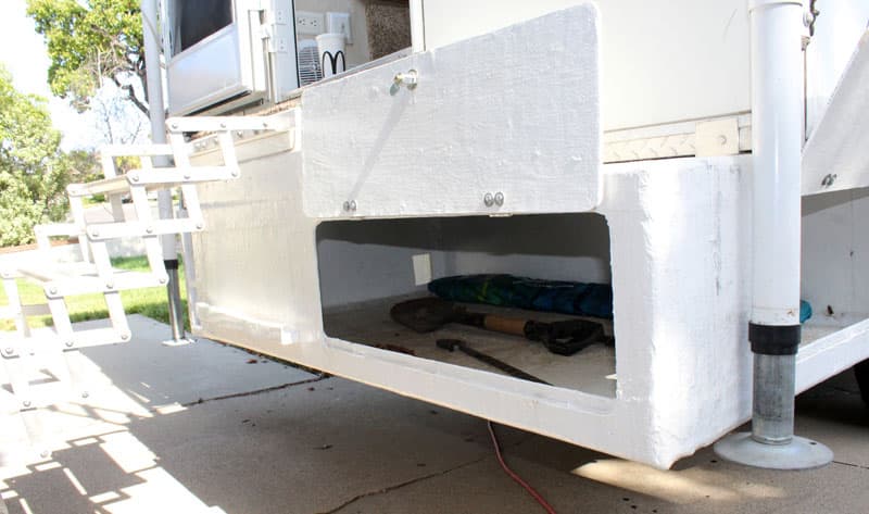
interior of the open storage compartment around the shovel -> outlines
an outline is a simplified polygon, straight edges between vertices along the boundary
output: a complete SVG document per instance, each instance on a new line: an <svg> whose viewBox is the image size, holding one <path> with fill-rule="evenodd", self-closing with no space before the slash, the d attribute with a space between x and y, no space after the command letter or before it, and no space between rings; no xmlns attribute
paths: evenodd
<svg viewBox="0 0 869 514"><path fill-rule="evenodd" d="M327 336L508 375L458 349L450 352L436 343L439 339L458 339L473 350L553 386L615 398L609 230L602 215L335 221L320 224L316 238ZM521 287L551 286L549 281L555 280L597 285L590 290L603 296L583 297L584 289L571 288L555 302L562 311L567 304L565 298L579 311L603 304L604 310L596 311L596 316L484 303L458 305L471 312L543 323L588 319L601 324L604 334L592 337L594 342L587 348L562 355L520 336L496 334L461 323L448 323L442 328L419 334L390 317L390 310L398 302L433 296L427 288L431 279L479 274L545 280L542 284L521 281ZM566 285L559 285L559 293L565 293L565 288ZM546 294L555 290L544 289L549 290ZM519 291L521 298L527 299L528 294L527 289ZM491 290L481 296L492 297ZM537 305L549 302L534 301ZM591 309L587 309L589 306ZM608 315L601 316L607 309Z"/></svg>

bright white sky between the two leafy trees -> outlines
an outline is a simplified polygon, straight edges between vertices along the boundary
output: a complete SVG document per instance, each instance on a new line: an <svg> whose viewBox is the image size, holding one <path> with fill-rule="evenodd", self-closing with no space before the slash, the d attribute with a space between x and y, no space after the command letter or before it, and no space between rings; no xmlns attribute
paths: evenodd
<svg viewBox="0 0 869 514"><path fill-rule="evenodd" d="M93 148L102 139L93 116L78 114L66 100L52 97L48 87L50 61L42 36L36 34L33 20L26 15L25 0L0 1L0 62L12 74L21 92L39 95L49 100L51 121L63 134L62 148Z"/></svg>

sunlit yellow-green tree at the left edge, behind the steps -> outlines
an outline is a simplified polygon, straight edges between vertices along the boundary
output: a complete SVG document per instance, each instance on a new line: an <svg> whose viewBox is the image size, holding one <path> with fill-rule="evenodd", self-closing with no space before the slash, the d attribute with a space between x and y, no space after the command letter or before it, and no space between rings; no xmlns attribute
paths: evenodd
<svg viewBox="0 0 869 514"><path fill-rule="evenodd" d="M0 64L0 246L33 241L33 226L66 212L72 162L46 100L15 90Z"/></svg>

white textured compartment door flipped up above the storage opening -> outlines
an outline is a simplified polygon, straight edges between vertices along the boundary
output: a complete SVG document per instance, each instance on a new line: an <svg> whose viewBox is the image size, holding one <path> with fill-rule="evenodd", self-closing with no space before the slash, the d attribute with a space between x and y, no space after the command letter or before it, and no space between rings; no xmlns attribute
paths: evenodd
<svg viewBox="0 0 869 514"><path fill-rule="evenodd" d="M302 96L305 214L584 212L601 200L597 12L580 5Z"/></svg>

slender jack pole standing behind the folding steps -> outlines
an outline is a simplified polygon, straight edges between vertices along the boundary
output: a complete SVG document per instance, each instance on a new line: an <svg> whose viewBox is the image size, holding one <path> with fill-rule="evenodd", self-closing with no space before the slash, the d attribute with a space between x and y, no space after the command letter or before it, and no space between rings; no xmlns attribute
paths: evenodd
<svg viewBox="0 0 869 514"><path fill-rule="evenodd" d="M146 87L148 89L148 108L151 117L151 140L156 145L166 142L166 114L163 103L163 80L160 71L160 42L156 34L158 27L158 0L142 0L142 36L144 39L144 66ZM168 166L168 159L160 156L154 159L158 167ZM172 191L158 191L158 208L161 220L174 217L172 205ZM168 273L166 293L168 298L169 325L172 327L172 341L186 342L184 338L184 309L181 308L180 286L178 283L178 250L175 235L167 234L161 237L163 246L163 262Z"/></svg>

